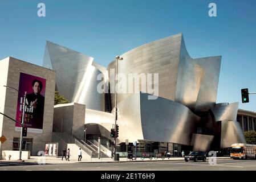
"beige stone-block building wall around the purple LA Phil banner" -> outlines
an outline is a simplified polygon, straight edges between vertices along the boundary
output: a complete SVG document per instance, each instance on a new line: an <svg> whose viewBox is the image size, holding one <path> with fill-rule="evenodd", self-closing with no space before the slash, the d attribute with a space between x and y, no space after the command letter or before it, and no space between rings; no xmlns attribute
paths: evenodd
<svg viewBox="0 0 256 182"><path fill-rule="evenodd" d="M54 116L54 91L55 91L55 71L39 67L13 57L7 57L0 61L0 112L10 118L17 118L17 102L19 80L21 73L40 77L46 80L44 92L43 126L41 132L27 132L27 137L23 138L23 150L30 151L31 155L37 155L38 151L44 151L46 143L52 140L52 121ZM30 83L31 84L31 83ZM9 85L17 90L6 88ZM30 85L31 86L31 85ZM32 90L32 86L31 86ZM28 93L31 90L27 90ZM2 150L19 150L19 140L21 131L15 130L15 122L0 114L0 137L5 135L6 142L2 144Z"/></svg>

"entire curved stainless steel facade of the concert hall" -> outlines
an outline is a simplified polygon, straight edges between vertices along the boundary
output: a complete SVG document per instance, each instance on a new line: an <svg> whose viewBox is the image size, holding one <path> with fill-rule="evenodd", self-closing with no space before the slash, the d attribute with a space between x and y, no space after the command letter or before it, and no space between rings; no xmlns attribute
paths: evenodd
<svg viewBox="0 0 256 182"><path fill-rule="evenodd" d="M117 93L119 143L125 139L168 142L204 151L245 143L236 120L238 103L216 104L221 56L192 59L182 34L177 34L134 48L120 57L123 60L119 61L118 73L126 77L129 73L157 73L159 82L154 84L153 78L147 82L140 80L132 85L132 90L138 88L139 92ZM87 126L97 124L110 131L114 117L100 111L105 111L106 103L115 107L115 93L111 92L111 101L106 102L106 95L97 93L100 81L96 78L103 73L107 85L110 82L110 90L115 90L111 78L115 78L116 60L104 68L92 57L47 42L44 66L56 70L60 94L91 109L87 111L91 119L85 117ZM143 84L151 88L158 86L158 92L144 89ZM149 100L153 95L158 98ZM95 119L97 115L104 117ZM112 121L100 119L106 117ZM110 135L108 138L112 140Z"/></svg>

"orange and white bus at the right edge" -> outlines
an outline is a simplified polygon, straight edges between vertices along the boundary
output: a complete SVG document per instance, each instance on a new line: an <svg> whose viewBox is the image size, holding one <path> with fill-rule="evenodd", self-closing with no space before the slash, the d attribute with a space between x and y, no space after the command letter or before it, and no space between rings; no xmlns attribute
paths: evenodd
<svg viewBox="0 0 256 182"><path fill-rule="evenodd" d="M256 159L256 144L234 143L231 145L230 158Z"/></svg>

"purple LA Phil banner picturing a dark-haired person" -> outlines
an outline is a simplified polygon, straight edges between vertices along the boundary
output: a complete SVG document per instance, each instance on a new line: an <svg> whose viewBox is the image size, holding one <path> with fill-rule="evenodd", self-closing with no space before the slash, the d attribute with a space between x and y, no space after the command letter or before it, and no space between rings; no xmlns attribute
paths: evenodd
<svg viewBox="0 0 256 182"><path fill-rule="evenodd" d="M43 129L44 96L46 80L44 78L21 73L19 77L19 92L27 92L25 105L25 127L30 129ZM23 97L18 94L16 120L22 122ZM21 127L18 123L16 127ZM31 131L31 130L28 130Z"/></svg>

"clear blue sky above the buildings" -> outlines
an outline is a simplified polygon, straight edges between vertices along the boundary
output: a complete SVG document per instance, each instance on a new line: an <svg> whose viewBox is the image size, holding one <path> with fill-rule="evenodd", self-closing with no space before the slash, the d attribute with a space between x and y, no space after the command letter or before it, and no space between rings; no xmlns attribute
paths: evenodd
<svg viewBox="0 0 256 182"><path fill-rule="evenodd" d="M38 3L46 17L37 16ZM208 5L217 5L217 17ZM42 65L46 40L107 66L116 55L182 32L191 57L222 56L217 102L256 111L256 1L0 0L0 60L12 56Z"/></svg>

